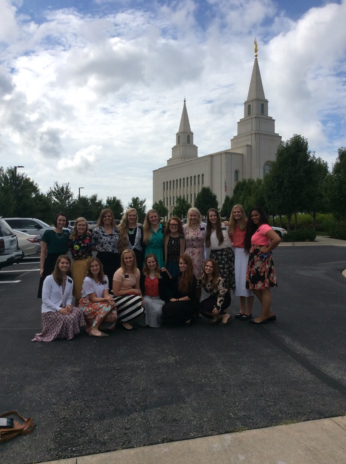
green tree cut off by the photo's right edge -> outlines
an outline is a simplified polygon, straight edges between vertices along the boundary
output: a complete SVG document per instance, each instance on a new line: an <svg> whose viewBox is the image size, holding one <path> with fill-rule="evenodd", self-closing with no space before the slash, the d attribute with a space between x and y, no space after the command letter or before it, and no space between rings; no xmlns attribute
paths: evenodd
<svg viewBox="0 0 346 464"><path fill-rule="evenodd" d="M346 219L346 148L338 149L332 172L327 178L328 204L331 211Z"/></svg>

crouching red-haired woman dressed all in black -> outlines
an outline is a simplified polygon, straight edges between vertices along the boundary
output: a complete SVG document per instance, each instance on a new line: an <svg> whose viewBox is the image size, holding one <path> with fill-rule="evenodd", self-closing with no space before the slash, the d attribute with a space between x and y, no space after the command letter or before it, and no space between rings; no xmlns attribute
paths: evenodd
<svg viewBox="0 0 346 464"><path fill-rule="evenodd" d="M182 322L184 325L189 325L195 310L198 308L198 300L194 265L188 255L182 255L179 258L179 270L179 274L170 280L170 284L173 286L173 298L164 304L162 314L165 321Z"/></svg>

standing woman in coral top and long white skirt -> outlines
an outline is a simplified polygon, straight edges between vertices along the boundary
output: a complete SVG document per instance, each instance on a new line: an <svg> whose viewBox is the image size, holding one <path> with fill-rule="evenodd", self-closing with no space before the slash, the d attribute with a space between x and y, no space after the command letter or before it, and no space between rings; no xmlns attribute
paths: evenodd
<svg viewBox="0 0 346 464"><path fill-rule="evenodd" d="M229 233L233 242L235 295L239 296L240 311L235 316L240 321L252 319L252 305L254 295L252 290L246 288L246 270L249 261L249 253L245 251L246 215L243 206L234 205L229 218ZM246 306L247 302L247 306Z"/></svg>

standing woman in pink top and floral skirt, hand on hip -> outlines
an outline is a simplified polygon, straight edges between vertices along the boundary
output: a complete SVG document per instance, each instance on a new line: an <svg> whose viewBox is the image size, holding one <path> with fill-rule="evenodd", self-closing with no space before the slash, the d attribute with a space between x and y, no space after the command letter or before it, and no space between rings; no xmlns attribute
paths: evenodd
<svg viewBox="0 0 346 464"><path fill-rule="evenodd" d="M259 317L250 319L255 324L267 324L276 321L271 310L271 287L277 287L277 276L271 251L279 245L281 238L268 224L261 208L252 208L245 232L245 250L249 251L249 263L246 272L246 288L253 291L262 304Z"/></svg>

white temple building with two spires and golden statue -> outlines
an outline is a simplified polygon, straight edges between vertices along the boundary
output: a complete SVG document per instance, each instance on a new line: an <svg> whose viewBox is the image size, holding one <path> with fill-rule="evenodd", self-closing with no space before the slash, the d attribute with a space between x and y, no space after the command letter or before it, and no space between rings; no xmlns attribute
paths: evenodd
<svg viewBox="0 0 346 464"><path fill-rule="evenodd" d="M163 200L171 216L177 197L182 195L194 205L201 188L210 187L221 207L226 195L232 195L238 180L263 179L271 161L275 160L280 142L281 136L275 133L275 120L268 116L268 100L264 97L256 54L244 117L238 122L231 148L198 157L184 100L172 156L167 166L153 171L153 202Z"/></svg>

